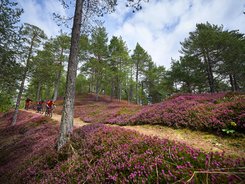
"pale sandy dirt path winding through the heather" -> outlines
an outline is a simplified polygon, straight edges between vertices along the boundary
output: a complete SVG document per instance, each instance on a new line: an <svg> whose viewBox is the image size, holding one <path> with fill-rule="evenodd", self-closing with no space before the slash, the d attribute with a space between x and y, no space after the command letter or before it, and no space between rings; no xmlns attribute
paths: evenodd
<svg viewBox="0 0 245 184"><path fill-rule="evenodd" d="M28 110L28 112L36 113L32 110ZM53 113L52 119L60 122L61 115ZM85 123L80 118L74 118L75 127L81 127L88 124L90 123ZM189 129L173 129L170 127L159 125L138 125L121 127L137 131L142 135L156 136L158 138L180 142L190 147L203 150L205 152L224 152L224 154L227 156L245 157L245 137L219 137L207 132L192 131Z"/></svg>

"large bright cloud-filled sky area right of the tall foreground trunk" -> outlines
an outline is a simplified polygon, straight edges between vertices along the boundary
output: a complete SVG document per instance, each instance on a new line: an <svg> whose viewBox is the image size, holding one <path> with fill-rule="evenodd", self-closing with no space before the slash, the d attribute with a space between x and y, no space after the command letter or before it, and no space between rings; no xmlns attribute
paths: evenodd
<svg viewBox="0 0 245 184"><path fill-rule="evenodd" d="M138 42L158 65L170 67L171 57L178 59L180 42L195 30L197 23L210 22L224 25L225 29L240 29L245 32L245 16L242 0L162 0L144 4L143 10L136 12L114 26L117 18L107 18L109 35L121 35L133 50ZM128 11L128 10L125 10ZM118 15L124 15L123 10Z"/></svg>

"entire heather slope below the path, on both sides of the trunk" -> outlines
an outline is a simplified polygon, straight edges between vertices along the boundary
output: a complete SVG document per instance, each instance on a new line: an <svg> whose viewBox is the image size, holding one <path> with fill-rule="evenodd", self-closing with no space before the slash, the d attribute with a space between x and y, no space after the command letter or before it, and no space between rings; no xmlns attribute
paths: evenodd
<svg viewBox="0 0 245 184"><path fill-rule="evenodd" d="M55 151L58 123L20 112L0 119L0 183L173 183L244 181L244 158L103 124L76 128Z"/></svg>

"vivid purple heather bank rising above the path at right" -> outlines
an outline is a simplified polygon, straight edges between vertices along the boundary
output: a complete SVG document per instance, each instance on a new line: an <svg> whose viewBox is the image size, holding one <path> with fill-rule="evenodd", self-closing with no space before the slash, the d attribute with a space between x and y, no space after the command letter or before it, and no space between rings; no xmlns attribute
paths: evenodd
<svg viewBox="0 0 245 184"><path fill-rule="evenodd" d="M245 130L245 95L220 94L181 95L162 103L145 106L133 116L117 116L111 124L160 124L172 127L221 132L231 122L236 131Z"/></svg>

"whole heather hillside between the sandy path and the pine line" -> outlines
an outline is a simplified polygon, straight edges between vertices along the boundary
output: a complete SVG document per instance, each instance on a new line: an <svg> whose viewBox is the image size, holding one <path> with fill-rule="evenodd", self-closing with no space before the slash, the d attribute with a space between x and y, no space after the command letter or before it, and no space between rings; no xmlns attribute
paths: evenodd
<svg viewBox="0 0 245 184"><path fill-rule="evenodd" d="M61 114L62 107L56 112ZM161 103L139 106L110 101L93 94L76 97L75 117L89 123L163 125L226 134L245 132L245 95L234 93L181 94Z"/></svg>

